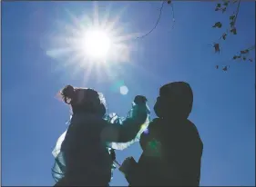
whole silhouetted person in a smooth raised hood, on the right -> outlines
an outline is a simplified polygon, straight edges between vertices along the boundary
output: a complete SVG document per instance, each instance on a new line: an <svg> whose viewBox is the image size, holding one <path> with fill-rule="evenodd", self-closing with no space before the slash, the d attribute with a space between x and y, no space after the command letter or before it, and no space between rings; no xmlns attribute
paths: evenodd
<svg viewBox="0 0 256 187"><path fill-rule="evenodd" d="M154 110L159 118L140 136L143 153L119 168L130 186L199 186L203 144L188 119L193 94L189 84L162 86Z"/></svg>

